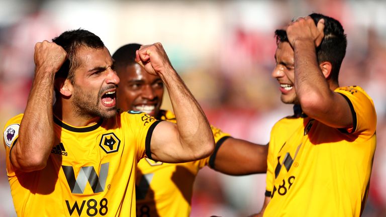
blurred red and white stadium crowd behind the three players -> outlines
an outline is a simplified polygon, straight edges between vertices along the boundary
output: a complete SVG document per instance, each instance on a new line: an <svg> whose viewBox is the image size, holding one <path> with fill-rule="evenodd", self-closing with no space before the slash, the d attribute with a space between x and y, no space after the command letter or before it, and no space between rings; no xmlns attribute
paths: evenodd
<svg viewBox="0 0 386 217"><path fill-rule="evenodd" d="M386 216L386 2L276 1L20 1L0 0L0 126L24 112L36 42L83 28L114 53L127 43L161 42L210 122L234 137L267 144L273 124L291 115L271 78L273 32L313 12L339 20L348 48L340 85L359 85L377 111L377 148L363 216ZM163 108L170 108L165 99ZM15 216L0 148L0 216ZM265 174L199 172L191 216L258 212Z"/></svg>

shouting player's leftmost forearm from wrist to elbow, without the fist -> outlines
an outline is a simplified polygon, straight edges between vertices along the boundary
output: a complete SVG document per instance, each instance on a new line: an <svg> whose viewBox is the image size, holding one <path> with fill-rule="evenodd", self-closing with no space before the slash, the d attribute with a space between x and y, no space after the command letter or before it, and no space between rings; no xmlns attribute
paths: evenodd
<svg viewBox="0 0 386 217"><path fill-rule="evenodd" d="M19 138L11 155L14 166L25 171L44 168L54 142L52 114L54 73L36 70L20 125Z"/></svg>

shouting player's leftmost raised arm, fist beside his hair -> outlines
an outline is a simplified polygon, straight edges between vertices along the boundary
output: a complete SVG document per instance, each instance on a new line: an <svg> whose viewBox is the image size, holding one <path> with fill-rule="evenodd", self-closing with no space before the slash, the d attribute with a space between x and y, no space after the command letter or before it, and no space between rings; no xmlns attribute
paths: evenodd
<svg viewBox="0 0 386 217"><path fill-rule="evenodd" d="M54 143L52 102L55 73L66 59L64 49L48 41L35 45L35 76L19 138L11 150L12 165L22 171L43 169Z"/></svg>

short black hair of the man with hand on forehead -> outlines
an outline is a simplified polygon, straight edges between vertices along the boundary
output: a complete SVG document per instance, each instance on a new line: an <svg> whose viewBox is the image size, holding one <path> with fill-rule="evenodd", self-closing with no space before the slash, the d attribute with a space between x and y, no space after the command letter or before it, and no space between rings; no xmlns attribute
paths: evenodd
<svg viewBox="0 0 386 217"><path fill-rule="evenodd" d="M319 62L330 62L332 65L331 79L338 81L338 75L343 58L346 55L347 39L346 34L339 21L321 15L309 15L318 24L320 19L324 19L324 38L322 43L316 49ZM288 42L285 30L275 31L276 44L279 42Z"/></svg>

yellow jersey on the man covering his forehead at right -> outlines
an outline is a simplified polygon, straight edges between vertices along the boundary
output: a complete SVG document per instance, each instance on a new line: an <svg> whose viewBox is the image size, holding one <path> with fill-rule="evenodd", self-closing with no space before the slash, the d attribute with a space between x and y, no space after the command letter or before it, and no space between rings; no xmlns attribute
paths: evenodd
<svg viewBox="0 0 386 217"><path fill-rule="evenodd" d="M359 216L363 210L376 146L374 105L358 86L335 91L350 105L352 129L305 115L272 128L264 216Z"/></svg>

